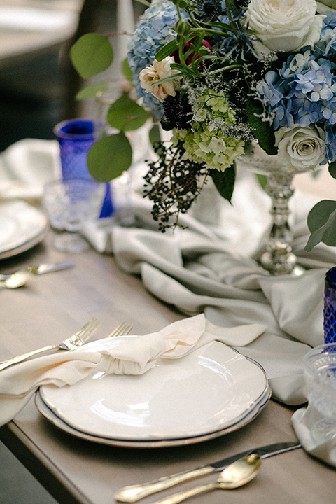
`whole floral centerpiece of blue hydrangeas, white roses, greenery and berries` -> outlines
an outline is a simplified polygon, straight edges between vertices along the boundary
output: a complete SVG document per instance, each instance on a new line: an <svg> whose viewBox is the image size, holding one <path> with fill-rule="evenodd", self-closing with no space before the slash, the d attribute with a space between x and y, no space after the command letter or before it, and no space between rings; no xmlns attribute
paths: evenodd
<svg viewBox="0 0 336 504"><path fill-rule="evenodd" d="M88 34L72 49L84 77L111 64L109 36ZM116 157L125 169L130 153L116 149L150 111L172 131L145 177L161 230L208 177L230 201L235 162L255 143L293 172L328 163L336 176L335 0L153 0L130 36L128 64L142 103L113 104L107 120L120 133L97 141L88 165L102 181L118 174ZM94 92L106 83L99 85ZM307 250L336 245L336 202L319 202L308 223Z"/></svg>

